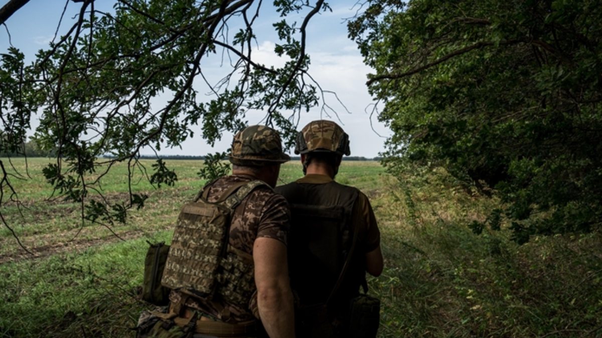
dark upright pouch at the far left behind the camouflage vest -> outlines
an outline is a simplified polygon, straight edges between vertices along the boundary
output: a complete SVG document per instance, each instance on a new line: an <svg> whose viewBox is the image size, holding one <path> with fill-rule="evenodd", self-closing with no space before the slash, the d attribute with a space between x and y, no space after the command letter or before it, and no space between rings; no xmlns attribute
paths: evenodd
<svg viewBox="0 0 602 338"><path fill-rule="evenodd" d="M164 242L151 244L144 259L144 282L142 284L142 299L155 304L166 305L169 303L169 289L161 286L161 277L165 261L169 253L169 245Z"/></svg>

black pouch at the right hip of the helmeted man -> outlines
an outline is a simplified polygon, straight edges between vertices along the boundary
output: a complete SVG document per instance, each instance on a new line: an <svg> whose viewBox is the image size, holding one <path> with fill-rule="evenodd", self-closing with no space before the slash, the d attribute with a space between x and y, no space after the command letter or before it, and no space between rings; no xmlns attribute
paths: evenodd
<svg viewBox="0 0 602 338"><path fill-rule="evenodd" d="M346 337L374 338L380 324L380 300L360 294L349 301Z"/></svg>

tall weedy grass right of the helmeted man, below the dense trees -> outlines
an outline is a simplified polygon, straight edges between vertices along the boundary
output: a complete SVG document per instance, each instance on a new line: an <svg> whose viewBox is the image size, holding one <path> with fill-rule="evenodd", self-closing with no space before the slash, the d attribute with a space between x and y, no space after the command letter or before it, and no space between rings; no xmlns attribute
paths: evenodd
<svg viewBox="0 0 602 338"><path fill-rule="evenodd" d="M458 183L421 167L371 185L385 257L368 281L382 302L378 337L600 336L601 234L519 246L489 228L500 201ZM488 225L480 236L473 222Z"/></svg>

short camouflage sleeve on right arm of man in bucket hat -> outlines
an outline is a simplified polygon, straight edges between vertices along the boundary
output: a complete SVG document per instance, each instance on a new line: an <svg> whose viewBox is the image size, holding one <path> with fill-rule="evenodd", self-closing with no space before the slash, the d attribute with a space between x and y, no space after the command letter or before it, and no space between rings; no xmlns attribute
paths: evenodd
<svg viewBox="0 0 602 338"><path fill-rule="evenodd" d="M273 194L261 210L257 237L278 239L287 245L288 229L290 227L290 209L287 200L279 194Z"/></svg>

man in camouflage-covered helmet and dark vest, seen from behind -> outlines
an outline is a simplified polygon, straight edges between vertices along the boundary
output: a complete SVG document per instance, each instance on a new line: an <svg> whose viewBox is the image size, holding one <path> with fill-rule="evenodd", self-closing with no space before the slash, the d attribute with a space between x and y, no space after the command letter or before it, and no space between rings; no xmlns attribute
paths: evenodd
<svg viewBox="0 0 602 338"><path fill-rule="evenodd" d="M350 329L350 301L359 297L360 286L367 292L365 273L380 275L383 259L370 201L334 180L343 155L350 155L349 137L333 121L312 121L297 135L295 153L305 176L276 192L291 206L288 253L291 287L299 297L297 336L375 336L377 309L369 314L376 316L370 333Z"/></svg>

